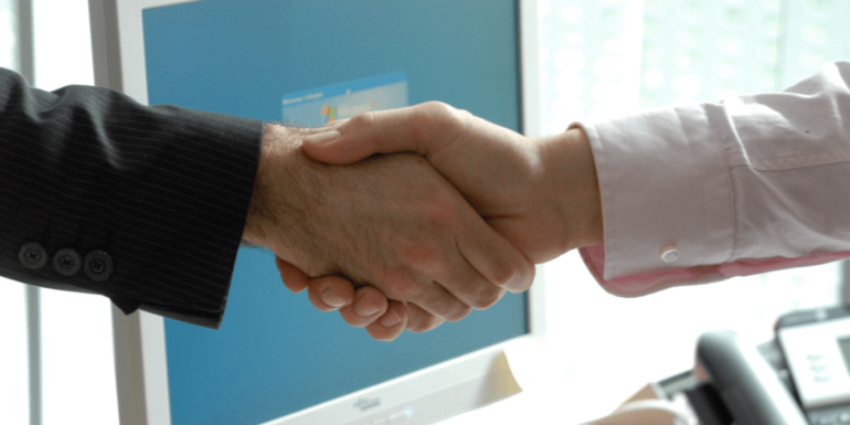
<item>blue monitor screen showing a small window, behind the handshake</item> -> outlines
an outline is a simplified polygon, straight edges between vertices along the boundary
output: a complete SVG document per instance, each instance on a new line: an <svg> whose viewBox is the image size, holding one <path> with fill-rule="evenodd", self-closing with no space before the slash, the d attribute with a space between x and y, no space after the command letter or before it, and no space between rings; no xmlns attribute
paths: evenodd
<svg viewBox="0 0 850 425"><path fill-rule="evenodd" d="M144 12L149 100L321 126L443 100L519 130L514 0L202 0ZM242 248L220 330L166 320L172 423L261 424L527 333L524 295L373 341Z"/></svg>

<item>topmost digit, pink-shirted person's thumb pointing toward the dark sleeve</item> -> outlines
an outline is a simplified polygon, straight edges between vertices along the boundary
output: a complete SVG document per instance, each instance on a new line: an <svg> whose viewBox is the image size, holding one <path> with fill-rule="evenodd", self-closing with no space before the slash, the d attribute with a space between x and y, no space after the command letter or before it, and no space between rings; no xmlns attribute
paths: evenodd
<svg viewBox="0 0 850 425"><path fill-rule="evenodd" d="M447 124L457 123L458 110L431 102L406 108L358 115L336 130L306 137L308 157L332 164L353 163L375 153L412 151L434 155L453 139ZM434 125L439 121L440 125ZM436 137L436 131L444 131Z"/></svg>

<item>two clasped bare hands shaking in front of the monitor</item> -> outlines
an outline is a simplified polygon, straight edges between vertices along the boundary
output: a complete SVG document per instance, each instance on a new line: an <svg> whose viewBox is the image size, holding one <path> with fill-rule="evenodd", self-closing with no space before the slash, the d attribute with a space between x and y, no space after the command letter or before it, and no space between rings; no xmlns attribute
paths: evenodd
<svg viewBox="0 0 850 425"><path fill-rule="evenodd" d="M528 138L426 103L264 138L244 241L379 340L460 320L528 289L534 264L603 243L580 128Z"/></svg>

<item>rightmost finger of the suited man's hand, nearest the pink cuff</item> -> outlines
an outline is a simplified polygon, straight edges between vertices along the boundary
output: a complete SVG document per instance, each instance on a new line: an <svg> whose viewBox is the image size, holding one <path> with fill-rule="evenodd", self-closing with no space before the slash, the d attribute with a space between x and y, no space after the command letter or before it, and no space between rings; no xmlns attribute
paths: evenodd
<svg viewBox="0 0 850 425"><path fill-rule="evenodd" d="M522 293L534 281L534 264L470 208L457 235L460 255L491 284ZM486 295L486 294L484 294Z"/></svg>

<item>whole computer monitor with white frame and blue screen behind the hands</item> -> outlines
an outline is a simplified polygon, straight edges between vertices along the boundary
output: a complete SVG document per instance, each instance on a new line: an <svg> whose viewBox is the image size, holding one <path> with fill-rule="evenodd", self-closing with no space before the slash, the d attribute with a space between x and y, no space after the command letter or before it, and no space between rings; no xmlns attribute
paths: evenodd
<svg viewBox="0 0 850 425"><path fill-rule="evenodd" d="M516 0L89 0L98 85L141 103L320 126L443 100L535 135L536 12ZM429 424L512 393L503 350L543 334L530 293L394 342L238 253L220 330L116 310L123 424ZM496 375L495 375L496 374Z"/></svg>

